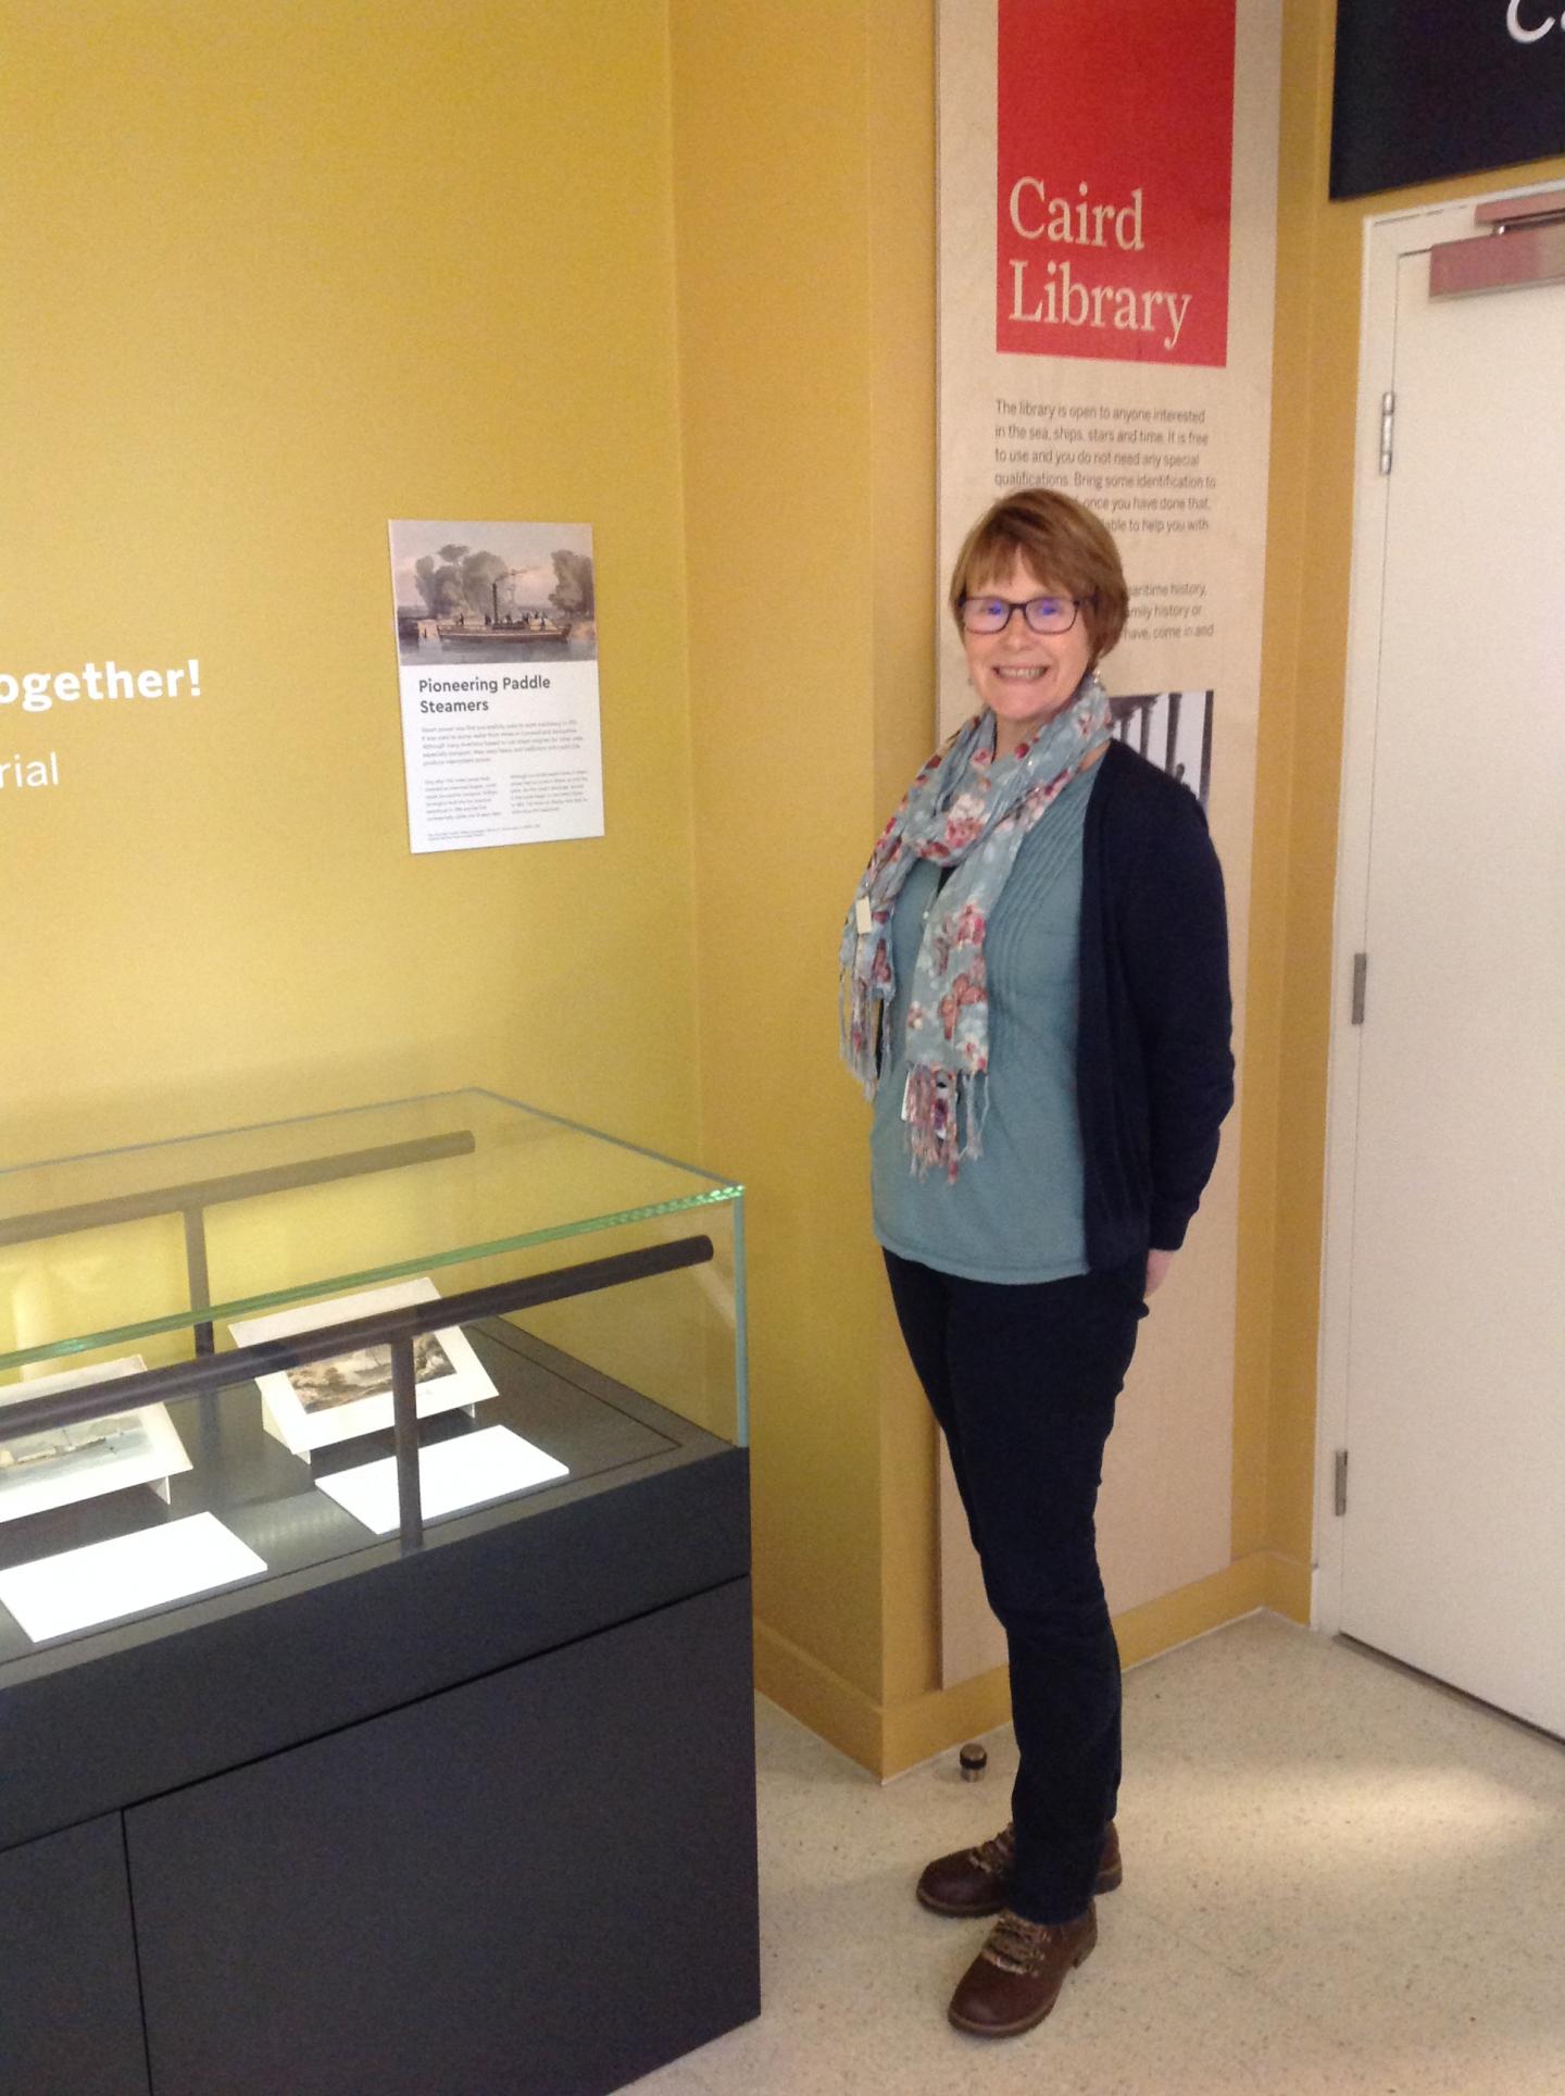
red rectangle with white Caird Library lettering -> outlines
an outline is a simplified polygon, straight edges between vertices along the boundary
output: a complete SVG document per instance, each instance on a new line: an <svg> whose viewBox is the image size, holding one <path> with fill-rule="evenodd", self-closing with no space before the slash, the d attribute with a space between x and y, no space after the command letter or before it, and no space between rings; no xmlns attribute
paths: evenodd
<svg viewBox="0 0 1565 2096"><path fill-rule="evenodd" d="M999 0L995 348L1228 363L1234 0Z"/></svg>

